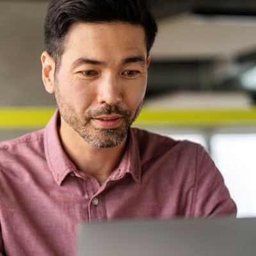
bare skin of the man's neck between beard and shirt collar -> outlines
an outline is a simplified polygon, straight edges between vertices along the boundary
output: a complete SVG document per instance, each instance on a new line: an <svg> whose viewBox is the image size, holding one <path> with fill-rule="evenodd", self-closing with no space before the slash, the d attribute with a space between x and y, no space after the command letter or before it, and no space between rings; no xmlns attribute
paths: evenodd
<svg viewBox="0 0 256 256"><path fill-rule="evenodd" d="M71 127L63 125L63 122L59 136L63 149L76 168L92 175L99 183L105 182L118 167L124 156L127 141L126 136L116 147L95 148L84 141Z"/></svg>

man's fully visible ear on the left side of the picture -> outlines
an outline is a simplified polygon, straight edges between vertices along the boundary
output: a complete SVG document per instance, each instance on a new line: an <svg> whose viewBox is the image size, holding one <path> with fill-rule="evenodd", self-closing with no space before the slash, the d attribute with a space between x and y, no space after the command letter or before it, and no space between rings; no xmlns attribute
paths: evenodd
<svg viewBox="0 0 256 256"><path fill-rule="evenodd" d="M49 93L54 93L54 70L55 62L46 51L42 53L42 79L44 82L45 90Z"/></svg>

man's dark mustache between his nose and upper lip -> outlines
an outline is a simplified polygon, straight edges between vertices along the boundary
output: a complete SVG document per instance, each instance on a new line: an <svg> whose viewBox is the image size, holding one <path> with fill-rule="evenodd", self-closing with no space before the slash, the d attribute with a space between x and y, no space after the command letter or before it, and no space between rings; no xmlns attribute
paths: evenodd
<svg viewBox="0 0 256 256"><path fill-rule="evenodd" d="M131 111L129 111L128 109L121 108L118 105L105 104L103 108L89 110L86 113L86 120L89 120L94 116L111 115L111 114L117 114L117 115L121 115L129 118L131 116Z"/></svg>

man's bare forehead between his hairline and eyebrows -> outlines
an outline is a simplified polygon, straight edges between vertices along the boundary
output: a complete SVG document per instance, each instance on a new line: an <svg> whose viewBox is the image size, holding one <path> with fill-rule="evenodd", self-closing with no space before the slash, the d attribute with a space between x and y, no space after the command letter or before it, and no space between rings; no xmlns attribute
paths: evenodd
<svg viewBox="0 0 256 256"><path fill-rule="evenodd" d="M147 54L142 26L123 22L73 24L68 31L64 54Z"/></svg>

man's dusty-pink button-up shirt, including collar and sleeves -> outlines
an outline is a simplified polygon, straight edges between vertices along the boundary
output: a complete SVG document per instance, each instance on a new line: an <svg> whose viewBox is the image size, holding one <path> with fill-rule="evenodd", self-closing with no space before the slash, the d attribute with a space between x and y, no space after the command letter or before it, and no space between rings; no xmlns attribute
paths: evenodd
<svg viewBox="0 0 256 256"><path fill-rule="evenodd" d="M61 148L58 112L44 130L0 143L0 252L75 255L77 223L236 214L204 148L131 129L118 168L100 186Z"/></svg>

